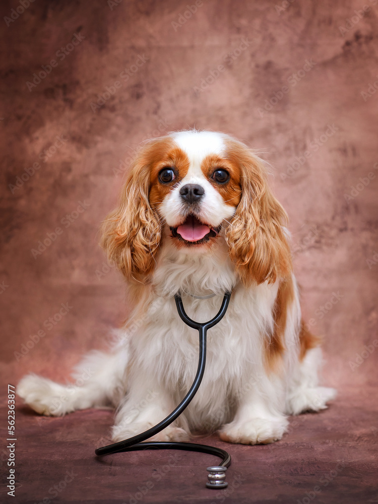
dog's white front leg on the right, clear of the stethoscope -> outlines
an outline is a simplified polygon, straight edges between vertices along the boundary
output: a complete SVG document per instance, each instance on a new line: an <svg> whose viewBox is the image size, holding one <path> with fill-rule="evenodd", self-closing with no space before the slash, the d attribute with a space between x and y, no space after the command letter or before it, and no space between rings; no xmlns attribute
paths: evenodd
<svg viewBox="0 0 378 504"><path fill-rule="evenodd" d="M237 398L234 419L219 431L221 439L243 445L267 444L281 439L288 421L283 414L279 381L272 383L264 376L257 385L244 387L244 390L247 392Z"/></svg>

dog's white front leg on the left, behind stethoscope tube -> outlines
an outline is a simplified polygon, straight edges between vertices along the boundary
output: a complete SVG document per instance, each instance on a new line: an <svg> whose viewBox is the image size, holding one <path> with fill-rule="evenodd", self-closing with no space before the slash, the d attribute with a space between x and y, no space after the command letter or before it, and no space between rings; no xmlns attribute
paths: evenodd
<svg viewBox="0 0 378 504"><path fill-rule="evenodd" d="M146 376L134 376L130 392L119 407L112 438L121 441L144 432L166 418L175 408L168 391ZM184 428L181 428L184 427ZM148 440L182 441L188 439L187 424L182 415Z"/></svg>

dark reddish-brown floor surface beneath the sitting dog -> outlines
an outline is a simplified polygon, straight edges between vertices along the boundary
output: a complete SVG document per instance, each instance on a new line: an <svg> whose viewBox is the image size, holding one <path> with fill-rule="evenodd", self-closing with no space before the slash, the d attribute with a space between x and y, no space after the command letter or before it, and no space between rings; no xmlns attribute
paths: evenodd
<svg viewBox="0 0 378 504"><path fill-rule="evenodd" d="M372 388L339 391L328 410L291 418L289 432L273 445L230 445L216 435L195 439L232 456L229 487L219 491L205 487L206 467L218 463L210 455L148 451L97 458L95 447L109 442L111 411L46 418L18 398L16 498L2 502L378 502L375 397ZM2 405L6 418L5 400Z"/></svg>

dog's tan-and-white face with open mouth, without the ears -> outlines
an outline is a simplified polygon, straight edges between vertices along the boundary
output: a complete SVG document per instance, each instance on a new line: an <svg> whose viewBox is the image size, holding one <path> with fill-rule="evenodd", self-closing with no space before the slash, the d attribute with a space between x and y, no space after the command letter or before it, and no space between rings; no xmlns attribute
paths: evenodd
<svg viewBox="0 0 378 504"><path fill-rule="evenodd" d="M224 153L219 134L177 133L151 167L150 205L178 248L214 246L240 203L240 169Z"/></svg>

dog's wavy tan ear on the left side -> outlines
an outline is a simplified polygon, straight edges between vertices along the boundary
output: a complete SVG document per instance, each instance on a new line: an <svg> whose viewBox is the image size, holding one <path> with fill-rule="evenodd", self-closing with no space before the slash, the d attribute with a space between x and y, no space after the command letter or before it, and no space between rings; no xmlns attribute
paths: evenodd
<svg viewBox="0 0 378 504"><path fill-rule="evenodd" d="M132 163L118 207L103 224L101 242L109 262L127 279L143 283L154 270L161 240L160 219L149 203L153 147L149 142Z"/></svg>

